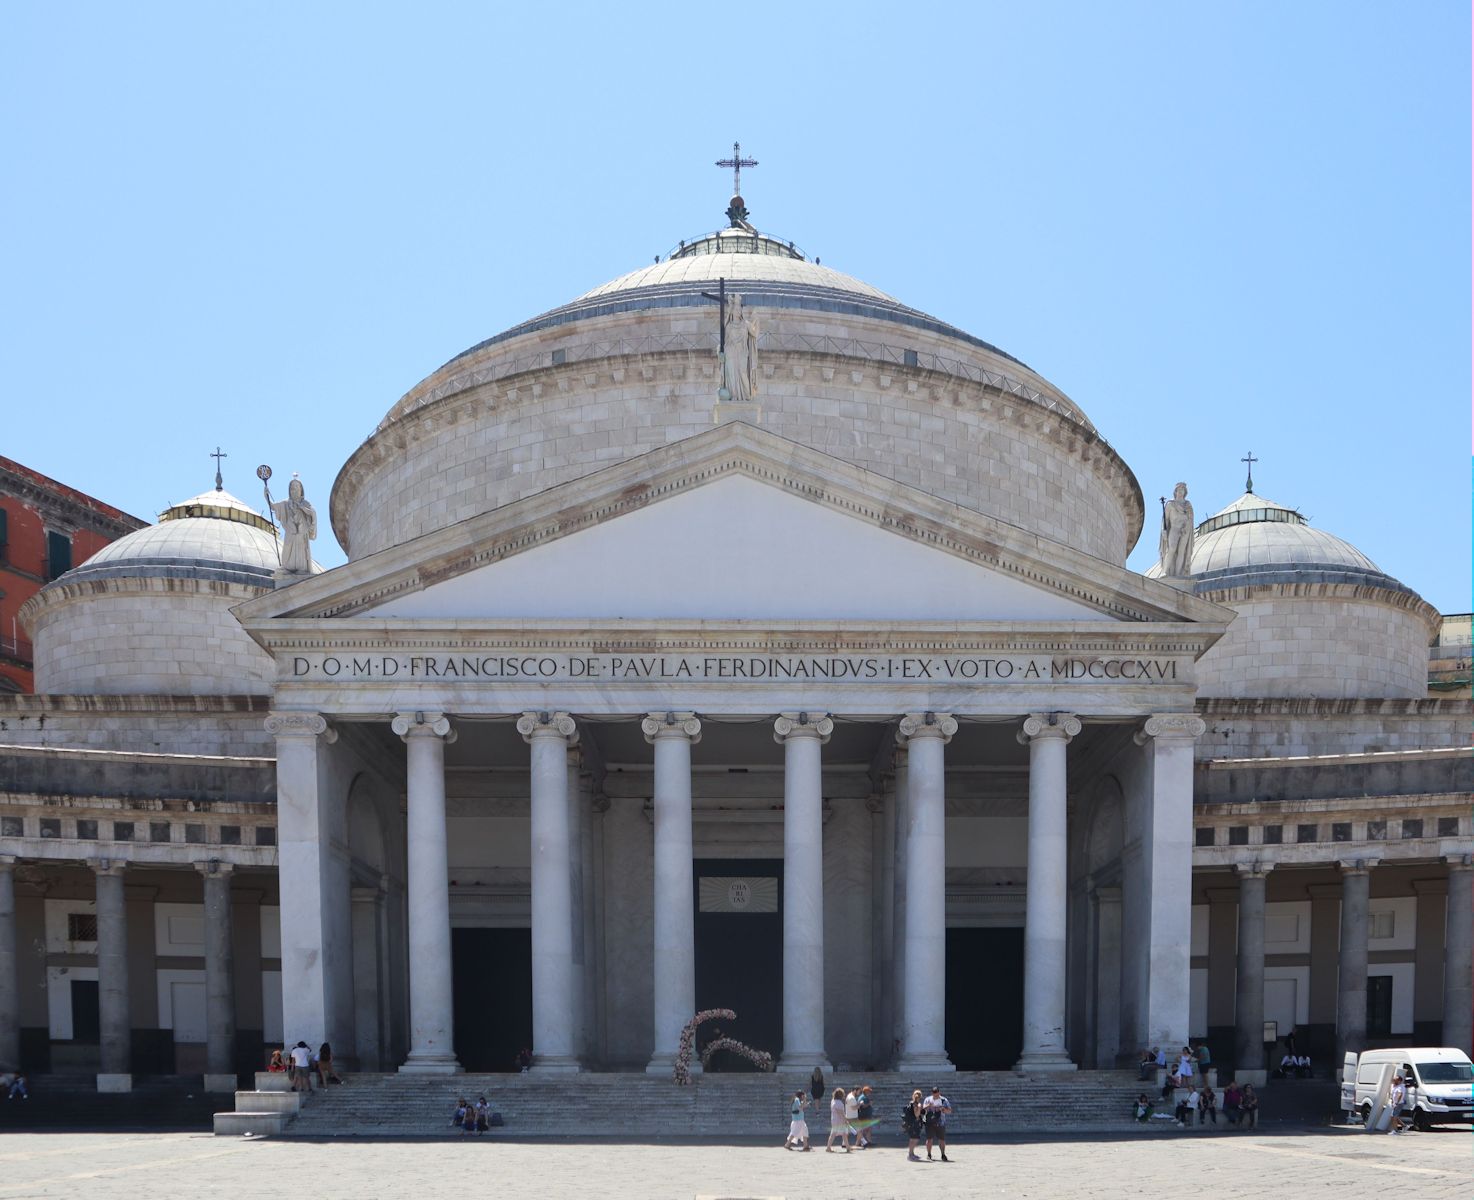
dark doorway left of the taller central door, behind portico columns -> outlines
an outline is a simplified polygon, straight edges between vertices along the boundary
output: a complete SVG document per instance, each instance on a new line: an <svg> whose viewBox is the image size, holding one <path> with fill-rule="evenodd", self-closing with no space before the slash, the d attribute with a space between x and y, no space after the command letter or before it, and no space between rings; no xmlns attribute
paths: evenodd
<svg viewBox="0 0 1474 1200"><path fill-rule="evenodd" d="M532 930L453 929L451 970L460 1064L514 1072L532 1047Z"/></svg>

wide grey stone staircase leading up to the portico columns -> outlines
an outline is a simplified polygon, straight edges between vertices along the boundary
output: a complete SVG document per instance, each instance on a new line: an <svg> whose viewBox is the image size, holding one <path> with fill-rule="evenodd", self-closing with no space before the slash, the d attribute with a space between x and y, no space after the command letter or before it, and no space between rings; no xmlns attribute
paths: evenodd
<svg viewBox="0 0 1474 1200"><path fill-rule="evenodd" d="M284 1088L283 1076L261 1075L258 1088ZM236 1113L215 1117L217 1134L284 1132L304 1138L461 1137L451 1126L460 1095L485 1095L506 1126L500 1138L771 1138L787 1131L789 1101L808 1086L806 1075L705 1075L680 1088L666 1076L584 1075L351 1075L342 1086L292 1092L237 1092ZM876 1140L902 1144L901 1109L914 1086L936 1082L952 1101L952 1138L998 1132L1097 1132L1134 1126L1131 1103L1142 1089L1131 1070L1082 1070L1021 1076L1011 1072L958 1072L933 1079L837 1075L828 1088L870 1084L876 1095ZM1150 1085L1145 1085L1150 1086ZM298 1112L299 1109L299 1112ZM295 1117L295 1119L293 1119ZM1160 1128L1164 1122L1157 1122ZM822 1144L828 1107L809 1112L809 1129Z"/></svg>

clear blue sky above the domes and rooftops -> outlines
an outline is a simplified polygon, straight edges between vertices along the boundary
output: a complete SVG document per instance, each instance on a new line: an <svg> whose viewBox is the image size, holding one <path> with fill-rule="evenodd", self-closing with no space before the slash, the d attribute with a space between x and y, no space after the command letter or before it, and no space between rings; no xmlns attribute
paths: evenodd
<svg viewBox="0 0 1474 1200"><path fill-rule="evenodd" d="M1467 4L13 3L0 103L0 453L140 516L217 442L326 509L442 361L721 224L741 139L761 229L1033 366L1151 509L1253 450L1470 609Z"/></svg>

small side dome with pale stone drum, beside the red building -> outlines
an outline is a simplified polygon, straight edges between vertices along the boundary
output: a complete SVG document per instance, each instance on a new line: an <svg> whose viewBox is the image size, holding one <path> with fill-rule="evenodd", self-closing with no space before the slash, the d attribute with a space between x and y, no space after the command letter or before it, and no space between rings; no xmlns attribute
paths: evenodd
<svg viewBox="0 0 1474 1200"><path fill-rule="evenodd" d="M170 506L21 609L35 690L270 693L271 659L230 610L271 590L277 547L271 522L223 488Z"/></svg>

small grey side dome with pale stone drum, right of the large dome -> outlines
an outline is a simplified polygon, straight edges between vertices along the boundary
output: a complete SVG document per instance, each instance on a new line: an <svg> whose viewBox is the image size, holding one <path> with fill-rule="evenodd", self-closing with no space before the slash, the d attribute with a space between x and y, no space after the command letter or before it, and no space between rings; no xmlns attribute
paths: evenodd
<svg viewBox="0 0 1474 1200"><path fill-rule="evenodd" d="M1147 576L1163 578L1156 563ZM1184 581L1188 582L1188 581ZM1194 594L1238 612L1204 697L1419 697L1439 613L1344 538L1251 491L1197 526Z"/></svg>

